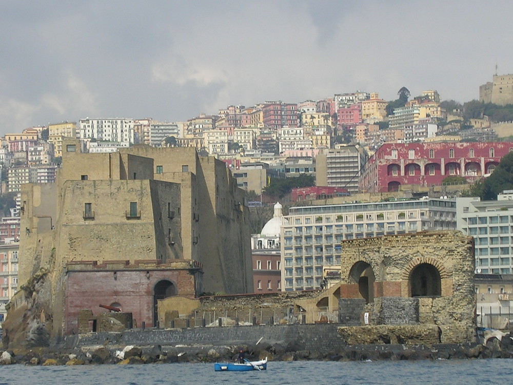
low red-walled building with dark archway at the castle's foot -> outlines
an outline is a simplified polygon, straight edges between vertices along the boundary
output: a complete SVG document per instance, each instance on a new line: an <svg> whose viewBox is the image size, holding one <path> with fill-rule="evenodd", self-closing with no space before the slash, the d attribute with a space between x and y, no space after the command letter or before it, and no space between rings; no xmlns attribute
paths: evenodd
<svg viewBox="0 0 513 385"><path fill-rule="evenodd" d="M133 326L155 325L157 300L171 296L194 298L201 292L202 266L192 260L77 261L67 264L65 290L66 334L78 331L78 313L90 309L104 313L100 305L132 313Z"/></svg>

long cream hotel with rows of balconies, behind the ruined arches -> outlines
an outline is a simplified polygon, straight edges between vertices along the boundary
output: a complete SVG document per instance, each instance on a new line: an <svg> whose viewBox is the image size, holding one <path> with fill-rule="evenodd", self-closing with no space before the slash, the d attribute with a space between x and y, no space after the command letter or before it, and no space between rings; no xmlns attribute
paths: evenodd
<svg viewBox="0 0 513 385"><path fill-rule="evenodd" d="M341 241L456 228L456 201L426 199L289 208L280 234L284 291L340 271Z"/></svg>

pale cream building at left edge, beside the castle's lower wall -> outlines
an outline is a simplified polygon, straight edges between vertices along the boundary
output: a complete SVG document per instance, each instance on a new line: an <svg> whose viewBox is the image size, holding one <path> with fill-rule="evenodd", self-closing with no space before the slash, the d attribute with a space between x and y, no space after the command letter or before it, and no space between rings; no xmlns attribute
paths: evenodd
<svg viewBox="0 0 513 385"><path fill-rule="evenodd" d="M0 244L0 322L7 311L5 305L18 288L19 243Z"/></svg>

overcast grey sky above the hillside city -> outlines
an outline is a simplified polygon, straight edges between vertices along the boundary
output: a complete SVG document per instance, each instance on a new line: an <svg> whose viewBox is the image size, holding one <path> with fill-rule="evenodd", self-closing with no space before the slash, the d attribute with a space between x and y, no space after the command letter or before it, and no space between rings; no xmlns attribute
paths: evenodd
<svg viewBox="0 0 513 385"><path fill-rule="evenodd" d="M357 90L479 99L513 73L513 2L2 0L0 135L62 121L186 121Z"/></svg>

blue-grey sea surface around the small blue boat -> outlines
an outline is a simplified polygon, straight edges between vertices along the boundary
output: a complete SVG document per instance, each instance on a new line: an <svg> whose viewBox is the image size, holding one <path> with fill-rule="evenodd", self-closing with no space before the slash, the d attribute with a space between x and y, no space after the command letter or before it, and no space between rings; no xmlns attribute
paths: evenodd
<svg viewBox="0 0 513 385"><path fill-rule="evenodd" d="M510 384L513 359L269 362L266 371L214 372L212 363L0 367L4 384Z"/></svg>

